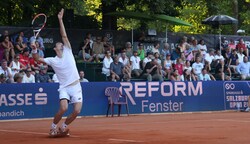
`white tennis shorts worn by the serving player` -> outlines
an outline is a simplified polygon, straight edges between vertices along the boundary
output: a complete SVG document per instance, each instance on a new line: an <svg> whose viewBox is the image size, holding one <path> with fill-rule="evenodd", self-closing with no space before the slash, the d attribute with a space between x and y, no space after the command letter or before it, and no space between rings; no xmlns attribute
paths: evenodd
<svg viewBox="0 0 250 144"><path fill-rule="evenodd" d="M59 99L67 99L70 103L82 102L82 87L81 83L72 86L61 88L59 91Z"/></svg>

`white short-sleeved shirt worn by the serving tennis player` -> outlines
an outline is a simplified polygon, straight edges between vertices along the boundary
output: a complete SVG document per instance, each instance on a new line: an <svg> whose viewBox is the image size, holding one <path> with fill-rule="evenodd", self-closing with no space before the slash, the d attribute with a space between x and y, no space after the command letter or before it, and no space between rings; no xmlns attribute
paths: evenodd
<svg viewBox="0 0 250 144"><path fill-rule="evenodd" d="M72 50L63 46L62 58L57 56L44 58L44 61L55 71L61 88L64 88L79 80L79 73Z"/></svg>

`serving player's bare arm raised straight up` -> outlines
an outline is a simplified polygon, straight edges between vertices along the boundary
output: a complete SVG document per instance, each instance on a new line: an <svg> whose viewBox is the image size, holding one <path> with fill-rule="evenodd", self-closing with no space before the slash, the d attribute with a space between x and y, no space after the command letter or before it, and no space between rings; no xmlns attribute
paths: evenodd
<svg viewBox="0 0 250 144"><path fill-rule="evenodd" d="M70 42L68 40L67 37L67 33L63 24L63 14L64 14L64 9L62 9L59 13L58 13L58 20L59 20L59 25L60 25L60 33L61 33L61 37L62 37L62 41L63 44L69 48L71 48Z"/></svg>

